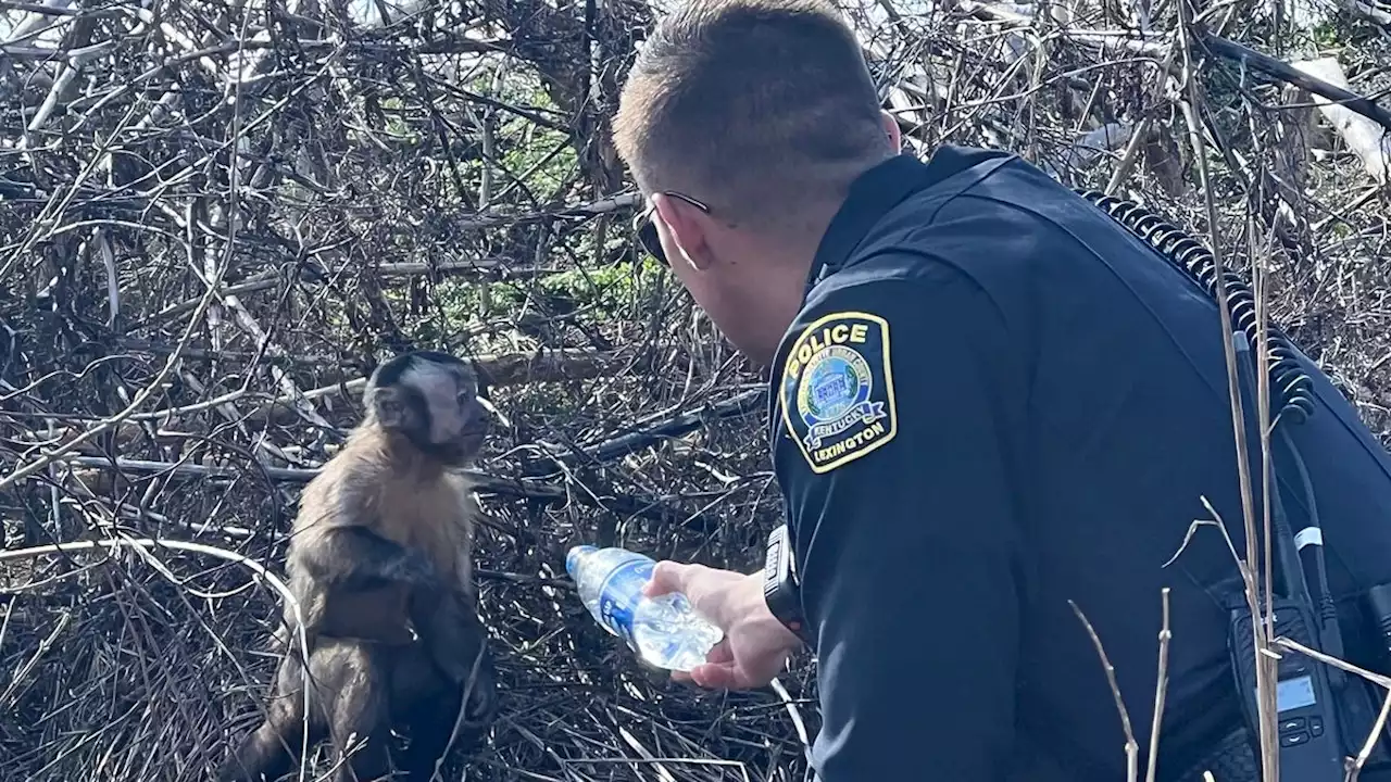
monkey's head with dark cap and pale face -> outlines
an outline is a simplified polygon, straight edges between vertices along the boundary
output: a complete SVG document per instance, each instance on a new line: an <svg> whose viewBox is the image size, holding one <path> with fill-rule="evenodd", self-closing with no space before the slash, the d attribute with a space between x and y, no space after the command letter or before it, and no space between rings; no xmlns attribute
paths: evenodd
<svg viewBox="0 0 1391 782"><path fill-rule="evenodd" d="M447 466L477 458L490 413L467 363L445 353L406 353L378 367L369 388L377 420L431 458Z"/></svg>

